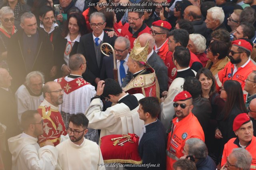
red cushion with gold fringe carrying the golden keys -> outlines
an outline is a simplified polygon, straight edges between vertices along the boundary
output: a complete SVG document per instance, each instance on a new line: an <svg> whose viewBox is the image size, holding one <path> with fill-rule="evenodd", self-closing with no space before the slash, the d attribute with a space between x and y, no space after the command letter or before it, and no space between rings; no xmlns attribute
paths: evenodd
<svg viewBox="0 0 256 170"><path fill-rule="evenodd" d="M134 135L134 134L131 134ZM142 164L142 160L138 153L139 138L134 137L136 142L125 142L124 146L113 145L112 138L122 137L122 134L111 134L100 138L100 150L102 152L104 163L132 163ZM124 140L124 139L121 139Z"/></svg>

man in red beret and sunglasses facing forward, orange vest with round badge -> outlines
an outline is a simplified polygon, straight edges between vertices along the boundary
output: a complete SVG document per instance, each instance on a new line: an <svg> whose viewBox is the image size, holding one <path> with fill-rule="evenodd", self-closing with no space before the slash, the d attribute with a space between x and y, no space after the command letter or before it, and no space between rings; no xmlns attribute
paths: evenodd
<svg viewBox="0 0 256 170"><path fill-rule="evenodd" d="M182 91L174 98L176 117L172 120L172 129L168 134L166 149L166 169L173 170L173 164L184 156L183 148L189 138L199 138L204 141L204 131L197 118L191 113L193 109L192 96L188 91Z"/></svg>

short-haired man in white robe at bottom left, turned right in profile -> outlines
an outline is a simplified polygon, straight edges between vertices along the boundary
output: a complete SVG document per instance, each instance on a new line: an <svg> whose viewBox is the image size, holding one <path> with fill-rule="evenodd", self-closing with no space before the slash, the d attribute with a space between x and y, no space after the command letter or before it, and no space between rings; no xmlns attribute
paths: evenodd
<svg viewBox="0 0 256 170"><path fill-rule="evenodd" d="M51 142L40 148L37 136L43 134L43 120L36 111L25 111L21 117L24 132L8 139L12 153L12 170L54 170L58 150Z"/></svg>

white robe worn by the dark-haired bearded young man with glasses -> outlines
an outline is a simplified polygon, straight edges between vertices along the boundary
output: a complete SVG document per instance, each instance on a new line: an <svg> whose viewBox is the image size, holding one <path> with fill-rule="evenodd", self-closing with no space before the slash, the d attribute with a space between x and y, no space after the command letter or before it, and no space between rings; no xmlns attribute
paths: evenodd
<svg viewBox="0 0 256 170"><path fill-rule="evenodd" d="M70 139L56 146L59 151L56 170L105 170L100 147L96 142L84 138L79 146Z"/></svg>

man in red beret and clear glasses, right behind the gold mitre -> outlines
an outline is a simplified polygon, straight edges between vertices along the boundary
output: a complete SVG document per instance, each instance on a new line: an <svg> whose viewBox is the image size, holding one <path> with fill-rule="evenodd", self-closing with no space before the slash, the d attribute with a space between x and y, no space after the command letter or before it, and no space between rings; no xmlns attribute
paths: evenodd
<svg viewBox="0 0 256 170"><path fill-rule="evenodd" d="M168 50L168 34L172 28L171 24L167 21L158 20L152 23L151 35L155 39L154 50L159 57L165 62Z"/></svg>

